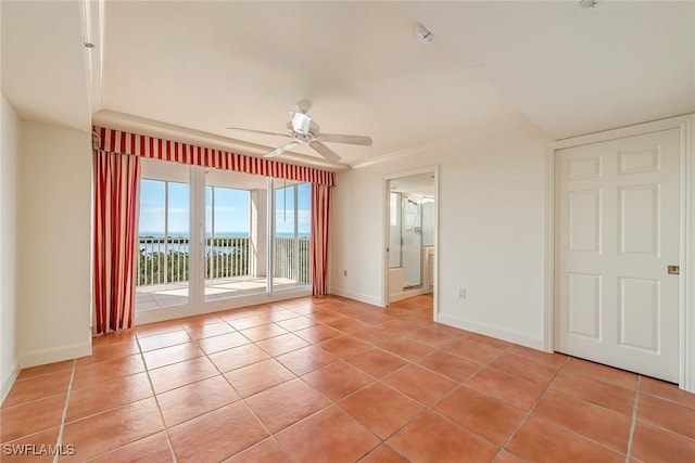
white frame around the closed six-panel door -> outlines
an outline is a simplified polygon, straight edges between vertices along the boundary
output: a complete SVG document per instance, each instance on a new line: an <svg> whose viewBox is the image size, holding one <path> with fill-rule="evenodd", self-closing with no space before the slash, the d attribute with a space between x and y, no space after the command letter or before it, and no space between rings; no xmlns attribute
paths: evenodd
<svg viewBox="0 0 695 463"><path fill-rule="evenodd" d="M543 305L543 350L554 351L555 343L555 182L558 150L633 137L668 129L680 134L680 242L681 284L679 287L679 387L695 393L695 114L671 117L630 127L549 143L545 163L545 270Z"/></svg>

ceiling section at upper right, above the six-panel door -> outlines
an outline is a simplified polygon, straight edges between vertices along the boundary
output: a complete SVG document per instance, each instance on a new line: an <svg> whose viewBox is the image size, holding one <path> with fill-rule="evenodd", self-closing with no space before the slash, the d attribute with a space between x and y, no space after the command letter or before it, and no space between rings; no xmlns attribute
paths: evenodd
<svg viewBox="0 0 695 463"><path fill-rule="evenodd" d="M695 111L695 2L404 2L554 139Z"/></svg>

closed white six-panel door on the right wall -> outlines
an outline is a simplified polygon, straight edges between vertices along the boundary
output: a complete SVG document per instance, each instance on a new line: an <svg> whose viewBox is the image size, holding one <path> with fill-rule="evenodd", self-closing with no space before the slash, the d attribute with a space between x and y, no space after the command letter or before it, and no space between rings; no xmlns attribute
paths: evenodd
<svg viewBox="0 0 695 463"><path fill-rule="evenodd" d="M678 382L679 131L556 152L555 350Z"/></svg>

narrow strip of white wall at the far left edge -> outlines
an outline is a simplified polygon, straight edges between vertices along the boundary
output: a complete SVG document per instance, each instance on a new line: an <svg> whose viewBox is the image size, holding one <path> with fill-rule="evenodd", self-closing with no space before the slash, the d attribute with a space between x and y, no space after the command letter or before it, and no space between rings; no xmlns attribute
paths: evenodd
<svg viewBox="0 0 695 463"><path fill-rule="evenodd" d="M4 97L0 104L0 402L18 373L16 350L15 247L17 227L17 159L22 121Z"/></svg>

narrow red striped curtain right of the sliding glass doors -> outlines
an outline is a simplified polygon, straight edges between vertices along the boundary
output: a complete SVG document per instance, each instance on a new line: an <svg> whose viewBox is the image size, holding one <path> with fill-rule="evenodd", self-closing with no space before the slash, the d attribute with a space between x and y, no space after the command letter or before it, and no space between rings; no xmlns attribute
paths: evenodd
<svg viewBox="0 0 695 463"><path fill-rule="evenodd" d="M312 184L312 295L328 294L328 216L330 187Z"/></svg>

